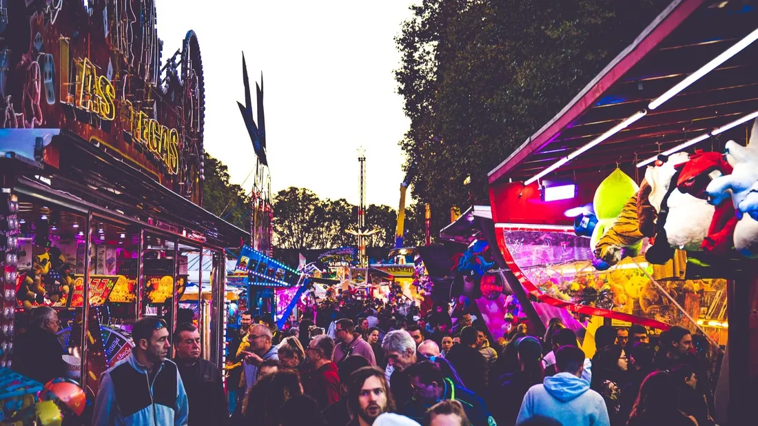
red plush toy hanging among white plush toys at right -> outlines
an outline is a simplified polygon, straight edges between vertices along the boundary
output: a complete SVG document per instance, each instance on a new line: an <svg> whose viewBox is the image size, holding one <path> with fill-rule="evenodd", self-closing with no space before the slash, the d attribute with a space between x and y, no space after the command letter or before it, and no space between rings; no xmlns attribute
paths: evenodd
<svg viewBox="0 0 758 426"><path fill-rule="evenodd" d="M731 174L731 165L719 152L703 152L698 149L694 155L690 155L690 161L677 164L676 169L681 171L677 180L677 188L682 193L690 194L699 199L707 199L706 186L716 177ZM733 235L737 226L735 206L731 200L725 199L716 205L713 213L708 236L700 246L704 252L712 252L717 255L726 254L733 248Z"/></svg>

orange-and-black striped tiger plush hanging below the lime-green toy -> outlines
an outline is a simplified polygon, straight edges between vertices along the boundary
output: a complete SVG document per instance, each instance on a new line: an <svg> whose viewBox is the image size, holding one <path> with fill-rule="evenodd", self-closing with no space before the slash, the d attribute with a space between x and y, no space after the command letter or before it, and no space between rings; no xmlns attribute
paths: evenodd
<svg viewBox="0 0 758 426"><path fill-rule="evenodd" d="M597 241L595 258L608 265L616 265L625 256L634 257L640 252L643 237L637 218L637 193L634 193L611 227Z"/></svg>

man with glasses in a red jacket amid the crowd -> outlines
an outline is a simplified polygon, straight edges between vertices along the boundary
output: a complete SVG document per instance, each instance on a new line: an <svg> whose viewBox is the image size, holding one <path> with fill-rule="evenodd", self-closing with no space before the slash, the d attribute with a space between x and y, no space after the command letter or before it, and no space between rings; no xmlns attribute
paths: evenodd
<svg viewBox="0 0 758 426"><path fill-rule="evenodd" d="M331 362L333 352L334 340L326 334L316 336L305 349L309 371L302 374L302 388L322 411L340 399L340 375L337 365Z"/></svg>

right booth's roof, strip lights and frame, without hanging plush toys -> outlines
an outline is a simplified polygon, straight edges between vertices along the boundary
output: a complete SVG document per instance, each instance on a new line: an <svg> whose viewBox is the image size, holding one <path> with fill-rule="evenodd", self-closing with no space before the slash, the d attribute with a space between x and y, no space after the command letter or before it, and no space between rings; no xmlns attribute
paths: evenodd
<svg viewBox="0 0 758 426"><path fill-rule="evenodd" d="M750 417L755 395L750 384L758 377L758 329L753 327L758 323L750 314L756 300L755 261L736 253L686 252L688 274L697 271L694 279L700 280L686 285L699 290L648 289L651 297L676 306L669 310L673 316L662 315L661 309L637 311L636 302L614 299L618 293L612 291L605 293L611 299L594 294L593 302L587 302L574 290L593 280L601 293L618 284L615 280L656 280L649 265L642 264L644 258L626 258L606 272L596 271L589 238L575 235L583 224L575 223L574 216L577 208L593 205L597 188L614 169L640 184L645 166L668 158L656 158L659 154L723 152L729 139L747 142L758 115L756 22L758 10L750 2L671 2L575 99L489 174L498 246L525 289L538 298L578 314L661 328L684 324L699 333L725 327L726 315L717 318L728 312L723 365L728 369L722 370L719 387L727 385L716 403L719 423L729 424ZM715 268L699 269L703 264ZM629 277L628 271L640 276ZM700 296L688 296L693 293ZM716 316L703 320L693 315L698 312ZM704 334L722 343L716 334Z"/></svg>

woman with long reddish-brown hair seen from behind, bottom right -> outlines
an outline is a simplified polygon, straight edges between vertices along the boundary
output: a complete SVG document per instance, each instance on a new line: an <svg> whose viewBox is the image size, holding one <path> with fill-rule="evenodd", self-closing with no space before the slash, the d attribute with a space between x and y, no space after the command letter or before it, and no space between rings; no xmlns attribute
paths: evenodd
<svg viewBox="0 0 758 426"><path fill-rule="evenodd" d="M654 371L645 377L627 425L697 426L694 418L678 409L680 387L676 382L666 371Z"/></svg>

